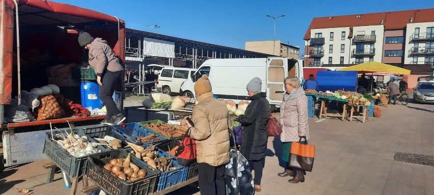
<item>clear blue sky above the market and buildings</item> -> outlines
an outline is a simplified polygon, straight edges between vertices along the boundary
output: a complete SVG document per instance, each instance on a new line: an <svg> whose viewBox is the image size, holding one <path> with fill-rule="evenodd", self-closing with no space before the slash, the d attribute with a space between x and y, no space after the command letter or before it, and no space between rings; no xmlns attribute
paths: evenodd
<svg viewBox="0 0 434 195"><path fill-rule="evenodd" d="M286 15L276 20L276 40L303 49L303 37L312 18L434 8L433 0L364 1L148 1L54 0L117 16L130 29L244 49L246 41L273 40L274 21L265 15ZM333 3L332 3L333 2ZM434 13L433 13L434 14Z"/></svg>

